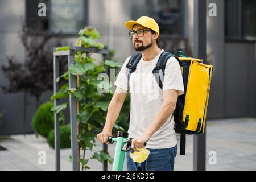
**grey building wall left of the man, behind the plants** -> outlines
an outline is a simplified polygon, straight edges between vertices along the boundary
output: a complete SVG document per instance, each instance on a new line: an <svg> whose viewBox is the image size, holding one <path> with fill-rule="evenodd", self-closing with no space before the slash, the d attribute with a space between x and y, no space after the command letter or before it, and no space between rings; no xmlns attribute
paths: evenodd
<svg viewBox="0 0 256 182"><path fill-rule="evenodd" d="M131 3L128 1L88 1L89 13L88 24L83 26L96 27L102 35L101 43L114 49L115 59L123 63L125 59L133 53L133 46L127 35L129 30L124 26L127 20L130 20ZM0 1L0 66L7 64L6 56L14 55L16 60L23 62L25 52L19 39L19 31L26 18L26 1ZM67 37L65 42L76 45L77 37ZM101 56L94 55L97 59ZM0 71L0 84L9 84ZM46 92L40 98L40 101L48 101L52 92ZM27 94L27 100L24 102L24 93L3 94L0 93L0 111L6 110L0 125L0 134L23 133L23 131L32 132L31 119L36 111L35 98ZM24 104L27 111L24 113ZM25 118L26 116L26 118ZM24 123L26 125L24 125Z"/></svg>

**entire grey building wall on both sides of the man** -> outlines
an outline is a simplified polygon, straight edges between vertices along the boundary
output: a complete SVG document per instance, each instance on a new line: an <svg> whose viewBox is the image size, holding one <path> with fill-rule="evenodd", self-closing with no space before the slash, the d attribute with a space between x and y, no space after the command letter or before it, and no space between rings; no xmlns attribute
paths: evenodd
<svg viewBox="0 0 256 182"><path fill-rule="evenodd" d="M217 17L207 14L207 61L214 65L212 86L208 105L208 118L241 117L255 115L255 42L225 42L224 1L208 0L217 5ZM101 43L114 49L115 59L123 63L134 53L131 40L124 26L127 20L136 19L132 13L137 1L90 0L86 26L96 27L102 35ZM139 1L139 3L145 3ZM185 38L193 42L193 1L184 0ZM208 7L207 7L208 8ZM209 10L209 8L208 8ZM208 11L207 11L208 13ZM0 65L6 64L6 56L15 55L17 61L24 61L25 53L19 39L19 30L25 18L25 0L0 1ZM84 25L81 25L81 28ZM76 44L77 37L68 37L68 44ZM96 58L101 59L100 56ZM8 81L0 71L0 84ZM41 101L49 100L52 92L46 92ZM24 119L24 93L0 93L0 111L6 109L0 125L0 134L32 131L31 118L34 115L35 98L27 97L26 126Z"/></svg>

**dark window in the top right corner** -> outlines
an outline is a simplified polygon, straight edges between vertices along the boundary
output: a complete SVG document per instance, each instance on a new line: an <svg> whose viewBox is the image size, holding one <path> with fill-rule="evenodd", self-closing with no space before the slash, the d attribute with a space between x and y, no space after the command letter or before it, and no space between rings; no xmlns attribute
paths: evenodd
<svg viewBox="0 0 256 182"><path fill-rule="evenodd" d="M256 40L256 1L225 1L225 36L227 39Z"/></svg>

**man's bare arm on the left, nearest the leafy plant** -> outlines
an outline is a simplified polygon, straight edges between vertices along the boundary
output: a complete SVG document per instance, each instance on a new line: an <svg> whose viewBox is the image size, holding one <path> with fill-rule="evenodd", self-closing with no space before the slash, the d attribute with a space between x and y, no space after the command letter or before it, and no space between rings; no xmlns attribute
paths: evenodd
<svg viewBox="0 0 256 182"><path fill-rule="evenodd" d="M126 96L127 91L117 87L108 107L105 126L102 132L97 135L97 138L101 143L107 143L108 137L112 135L114 123L120 114Z"/></svg>

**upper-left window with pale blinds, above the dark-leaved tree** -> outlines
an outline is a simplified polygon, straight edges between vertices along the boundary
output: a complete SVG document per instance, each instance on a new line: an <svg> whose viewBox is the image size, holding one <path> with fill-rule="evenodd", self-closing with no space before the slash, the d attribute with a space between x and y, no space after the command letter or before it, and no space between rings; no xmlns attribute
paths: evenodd
<svg viewBox="0 0 256 182"><path fill-rule="evenodd" d="M46 17L38 16L38 4L46 4ZM43 31L77 34L86 25L87 1L85 0L27 0L26 22L28 31Z"/></svg>

